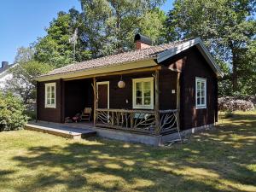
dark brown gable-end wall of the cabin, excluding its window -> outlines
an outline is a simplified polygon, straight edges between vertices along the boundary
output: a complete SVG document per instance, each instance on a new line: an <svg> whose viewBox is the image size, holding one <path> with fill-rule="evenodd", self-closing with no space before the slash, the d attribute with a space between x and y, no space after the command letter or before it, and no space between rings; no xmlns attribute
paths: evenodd
<svg viewBox="0 0 256 192"><path fill-rule="evenodd" d="M207 108L195 108L195 78L207 79ZM214 123L216 113L217 77L201 53L194 47L186 52L186 61L181 73L181 128Z"/></svg>

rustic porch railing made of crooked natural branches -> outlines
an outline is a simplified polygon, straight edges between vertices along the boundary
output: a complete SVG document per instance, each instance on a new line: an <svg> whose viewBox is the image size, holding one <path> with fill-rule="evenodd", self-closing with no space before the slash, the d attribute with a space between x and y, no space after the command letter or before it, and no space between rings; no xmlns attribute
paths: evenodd
<svg viewBox="0 0 256 192"><path fill-rule="evenodd" d="M96 126L159 135L177 129L177 110L156 113L154 110L98 108Z"/></svg>

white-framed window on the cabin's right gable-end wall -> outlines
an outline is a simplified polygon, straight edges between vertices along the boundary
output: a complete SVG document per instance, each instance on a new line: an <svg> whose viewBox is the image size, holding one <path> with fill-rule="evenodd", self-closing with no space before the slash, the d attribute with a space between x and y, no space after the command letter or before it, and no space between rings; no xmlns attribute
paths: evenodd
<svg viewBox="0 0 256 192"><path fill-rule="evenodd" d="M207 79L195 78L196 108L207 108Z"/></svg>

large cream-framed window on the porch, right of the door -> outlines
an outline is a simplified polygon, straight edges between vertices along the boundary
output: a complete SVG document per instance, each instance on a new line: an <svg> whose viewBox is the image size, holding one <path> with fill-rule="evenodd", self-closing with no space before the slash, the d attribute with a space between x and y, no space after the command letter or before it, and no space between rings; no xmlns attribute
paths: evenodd
<svg viewBox="0 0 256 192"><path fill-rule="evenodd" d="M154 78L132 79L133 108L154 108Z"/></svg>

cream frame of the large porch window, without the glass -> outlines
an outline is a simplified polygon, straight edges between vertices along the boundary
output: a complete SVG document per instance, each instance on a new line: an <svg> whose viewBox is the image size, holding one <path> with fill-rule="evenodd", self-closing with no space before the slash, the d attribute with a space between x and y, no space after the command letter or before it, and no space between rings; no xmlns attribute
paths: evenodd
<svg viewBox="0 0 256 192"><path fill-rule="evenodd" d="M136 104L136 84L140 82L150 82L150 105ZM143 93L142 98L144 98ZM154 109L154 78L132 79L132 108Z"/></svg>

